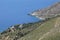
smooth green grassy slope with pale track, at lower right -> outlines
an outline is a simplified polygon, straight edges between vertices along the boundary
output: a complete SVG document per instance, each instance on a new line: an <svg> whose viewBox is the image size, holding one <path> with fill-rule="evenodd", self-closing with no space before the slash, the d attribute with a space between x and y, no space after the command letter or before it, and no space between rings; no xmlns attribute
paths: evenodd
<svg viewBox="0 0 60 40"><path fill-rule="evenodd" d="M60 40L60 17L43 23L19 40Z"/></svg>

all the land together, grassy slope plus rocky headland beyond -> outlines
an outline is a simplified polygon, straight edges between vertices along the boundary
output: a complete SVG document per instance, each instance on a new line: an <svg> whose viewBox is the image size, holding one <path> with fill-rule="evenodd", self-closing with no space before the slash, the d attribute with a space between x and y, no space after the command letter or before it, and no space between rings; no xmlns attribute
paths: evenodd
<svg viewBox="0 0 60 40"><path fill-rule="evenodd" d="M42 21L13 25L0 40L60 40L60 2L31 14Z"/></svg>

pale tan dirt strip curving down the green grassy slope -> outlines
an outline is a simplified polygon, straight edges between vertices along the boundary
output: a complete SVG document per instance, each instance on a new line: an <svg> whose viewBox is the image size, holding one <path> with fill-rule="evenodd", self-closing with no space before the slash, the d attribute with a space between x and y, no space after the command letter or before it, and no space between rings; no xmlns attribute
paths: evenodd
<svg viewBox="0 0 60 40"><path fill-rule="evenodd" d="M60 19L60 18L57 18L56 23L55 23L55 25L54 25L54 28L52 28L49 32L45 33L41 38L39 38L39 40L42 40L43 38L45 38L45 37L48 36L49 34L54 33L55 31L58 30L59 24L60 24L60 22L59 22L60 20L59 20L59 19Z"/></svg>

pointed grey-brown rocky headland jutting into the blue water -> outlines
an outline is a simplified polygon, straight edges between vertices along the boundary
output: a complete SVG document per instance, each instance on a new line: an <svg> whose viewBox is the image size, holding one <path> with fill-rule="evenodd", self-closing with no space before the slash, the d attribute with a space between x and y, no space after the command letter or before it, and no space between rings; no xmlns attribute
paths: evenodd
<svg viewBox="0 0 60 40"><path fill-rule="evenodd" d="M36 16L37 18L40 18L43 20L47 18L56 17L57 15L60 15L60 2L57 2L47 8L39 9L35 12L32 12L32 14L30 15Z"/></svg>

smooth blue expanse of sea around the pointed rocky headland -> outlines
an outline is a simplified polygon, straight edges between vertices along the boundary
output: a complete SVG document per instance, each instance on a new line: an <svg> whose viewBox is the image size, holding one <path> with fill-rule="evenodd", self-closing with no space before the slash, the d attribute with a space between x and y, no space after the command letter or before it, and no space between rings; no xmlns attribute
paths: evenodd
<svg viewBox="0 0 60 40"><path fill-rule="evenodd" d="M11 25L36 22L29 16L34 10L46 8L60 0L0 0L0 32Z"/></svg>

